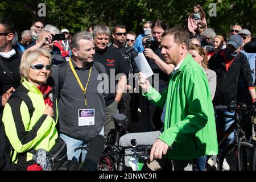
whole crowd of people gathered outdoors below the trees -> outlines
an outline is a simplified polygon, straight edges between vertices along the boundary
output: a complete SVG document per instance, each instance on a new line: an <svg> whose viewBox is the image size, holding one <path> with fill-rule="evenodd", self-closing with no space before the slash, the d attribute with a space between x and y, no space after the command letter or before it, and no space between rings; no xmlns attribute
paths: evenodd
<svg viewBox="0 0 256 182"><path fill-rule="evenodd" d="M107 138L112 116L122 113L129 125L119 144L137 139L152 144L151 161L166 155L174 170L204 171L208 156L234 140L233 133L218 147L217 130L234 119L216 115L213 106L251 105L256 98L256 53L243 50L251 32L235 24L224 38L206 18L196 4L188 30L148 20L138 36L123 24L111 31L92 23L71 35L37 20L20 41L13 22L0 18L0 132L6 135L0 136L0 168L51 170L55 159L84 162L92 139ZM54 40L57 34L64 38ZM154 75L139 71L139 53ZM245 131L250 141L252 125Z"/></svg>

